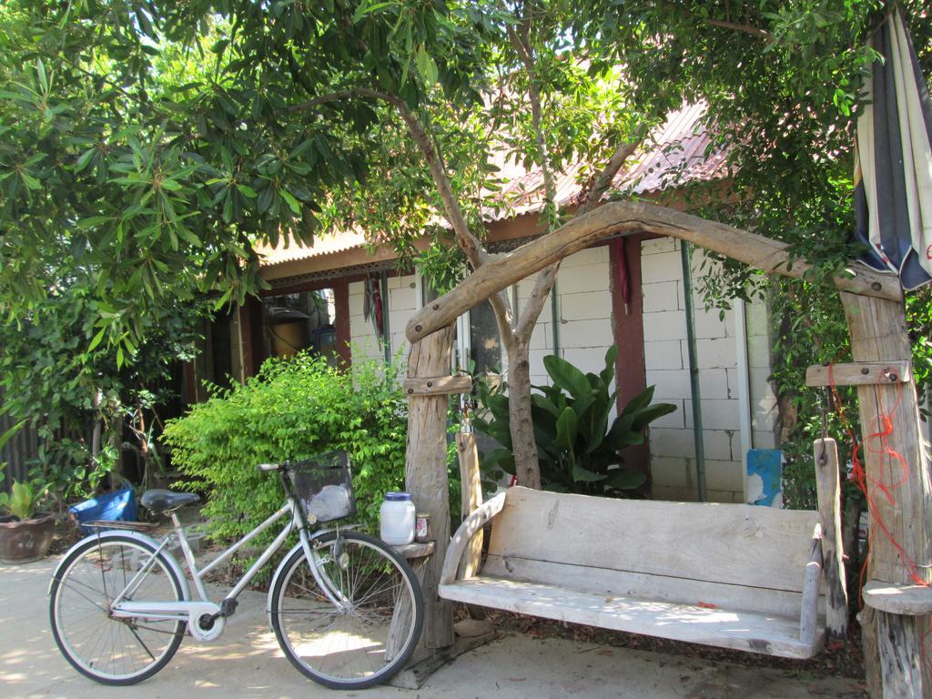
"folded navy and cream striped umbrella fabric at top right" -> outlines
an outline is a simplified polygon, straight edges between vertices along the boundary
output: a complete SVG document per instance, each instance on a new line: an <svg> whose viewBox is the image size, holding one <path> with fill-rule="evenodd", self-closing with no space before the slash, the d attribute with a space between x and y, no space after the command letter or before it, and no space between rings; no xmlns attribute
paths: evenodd
<svg viewBox="0 0 932 699"><path fill-rule="evenodd" d="M883 62L865 80L869 104L857 118L855 235L870 246L861 261L909 290L932 281L932 105L893 5L870 37Z"/></svg>

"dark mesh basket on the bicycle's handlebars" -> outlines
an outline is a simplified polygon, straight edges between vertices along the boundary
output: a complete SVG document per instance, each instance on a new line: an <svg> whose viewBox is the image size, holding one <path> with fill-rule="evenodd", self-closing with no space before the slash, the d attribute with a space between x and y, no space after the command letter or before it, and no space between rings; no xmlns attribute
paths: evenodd
<svg viewBox="0 0 932 699"><path fill-rule="evenodd" d="M288 468L288 477L310 524L356 514L349 455L345 451L296 461Z"/></svg>

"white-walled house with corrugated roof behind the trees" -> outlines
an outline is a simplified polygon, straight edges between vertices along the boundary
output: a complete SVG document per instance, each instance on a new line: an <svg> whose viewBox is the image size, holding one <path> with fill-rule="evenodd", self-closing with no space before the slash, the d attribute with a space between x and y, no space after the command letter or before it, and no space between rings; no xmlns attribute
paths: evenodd
<svg viewBox="0 0 932 699"><path fill-rule="evenodd" d="M618 174L614 185L637 197L685 207L692 185L720 182L725 177L725 158L706 152L709 138L700 126L701 116L701 106L672 114L654 134L652 145L633 167ZM579 197L576 174L570 169L557 183L561 206L572 206ZM506 190L505 195L511 193L519 200L508 218L489 217L490 251L508 250L540 235L540 182L540 172L528 172ZM315 297L317 306L325 303L324 330L332 338L330 346L341 361L351 364L404 353L406 322L432 300L417 270L399 271L390 250L368 249L358 231L315 240L310 248L281 246L264 255L261 274L271 285L266 308L251 303L238 309L230 321L234 354L239 352L234 365L243 376L273 353L281 336L281 323L271 319L269 307L307 305L308 295ZM718 310L704 310L694 283L692 303L687 304L684 289L702 274L702 258L702 251L695 251L684 275L679 242L649 235L610 240L566 258L532 336L531 379L539 384L547 381L543 358L553 353L583 371L597 372L604 365L606 349L617 344L619 404L653 385L655 400L678 407L653 423L648 444L628 456L650 473L651 496L699 497L693 430L698 417L706 499L744 502L744 455L752 447L776 446L767 308L762 301L736 301L720 316ZM512 288L513 307L526 302L532 286L533 279L528 279ZM483 370L503 362L487 303L459 319L458 336L459 366L473 360ZM701 410L694 408L696 393Z"/></svg>

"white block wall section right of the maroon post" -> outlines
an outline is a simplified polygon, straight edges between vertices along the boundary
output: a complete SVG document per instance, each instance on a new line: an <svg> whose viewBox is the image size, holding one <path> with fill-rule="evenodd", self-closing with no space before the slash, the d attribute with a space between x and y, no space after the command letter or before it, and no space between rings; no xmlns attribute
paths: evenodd
<svg viewBox="0 0 932 699"><path fill-rule="evenodd" d="M693 253L693 281L707 273L701 265L701 254L701 251ZM656 239L643 242L641 274L647 383L656 386L654 397L657 400L678 407L676 413L658 420L651 427L653 497L695 500L698 491L692 394L678 241ZM693 295L696 359L703 401L706 496L709 500L740 502L744 500L744 462L734 311L726 311L723 315L717 308L706 311L695 290ZM748 304L746 317L753 444L773 448L776 402L767 381L770 339L765 305L761 301Z"/></svg>

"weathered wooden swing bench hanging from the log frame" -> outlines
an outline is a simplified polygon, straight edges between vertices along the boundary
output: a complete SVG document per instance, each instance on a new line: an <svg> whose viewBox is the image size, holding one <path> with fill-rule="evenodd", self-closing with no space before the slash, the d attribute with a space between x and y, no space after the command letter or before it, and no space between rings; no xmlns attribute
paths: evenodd
<svg viewBox="0 0 932 699"><path fill-rule="evenodd" d="M492 523L487 559L463 574ZM809 658L825 639L819 514L512 487L459 527L439 595L711 646Z"/></svg>

